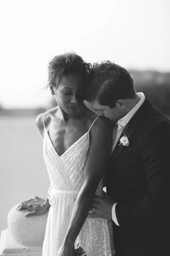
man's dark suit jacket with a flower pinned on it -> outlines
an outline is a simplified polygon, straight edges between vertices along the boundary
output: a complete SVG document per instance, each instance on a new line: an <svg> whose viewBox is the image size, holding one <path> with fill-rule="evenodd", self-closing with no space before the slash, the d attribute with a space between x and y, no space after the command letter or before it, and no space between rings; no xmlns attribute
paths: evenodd
<svg viewBox="0 0 170 256"><path fill-rule="evenodd" d="M118 141L106 172L116 256L170 256L170 120L146 97L128 130L130 145Z"/></svg>

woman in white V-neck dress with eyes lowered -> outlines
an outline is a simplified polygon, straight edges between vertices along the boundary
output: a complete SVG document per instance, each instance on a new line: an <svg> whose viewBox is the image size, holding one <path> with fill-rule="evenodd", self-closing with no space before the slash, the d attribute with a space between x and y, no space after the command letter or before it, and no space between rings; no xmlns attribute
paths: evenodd
<svg viewBox="0 0 170 256"><path fill-rule="evenodd" d="M89 210L95 212L90 209L94 194L103 195L111 123L83 104L90 65L80 56L55 56L48 68L48 86L58 106L40 114L36 124L44 137L50 202L47 198L30 208L28 201L19 210L28 208L37 215L50 207L43 256L74 256L78 244L87 256L112 256L111 220L87 218Z"/></svg>

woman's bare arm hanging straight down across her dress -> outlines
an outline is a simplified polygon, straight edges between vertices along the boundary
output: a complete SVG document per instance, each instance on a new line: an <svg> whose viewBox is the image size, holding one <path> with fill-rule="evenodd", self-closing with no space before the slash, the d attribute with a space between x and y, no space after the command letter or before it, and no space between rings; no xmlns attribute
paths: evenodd
<svg viewBox="0 0 170 256"><path fill-rule="evenodd" d="M71 250L74 250L74 243L87 218L95 191L110 158L111 131L111 123L105 117L99 117L90 130L90 147L84 166L83 185L76 199L63 247L59 249L57 256L74 255Z"/></svg>

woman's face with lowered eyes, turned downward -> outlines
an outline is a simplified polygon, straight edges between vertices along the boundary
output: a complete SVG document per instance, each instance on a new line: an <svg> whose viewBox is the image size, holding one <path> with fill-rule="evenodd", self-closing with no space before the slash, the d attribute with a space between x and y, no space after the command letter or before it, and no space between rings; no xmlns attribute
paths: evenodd
<svg viewBox="0 0 170 256"><path fill-rule="evenodd" d="M57 104L68 114L76 112L76 93L80 82L78 75L62 76L58 88L52 88Z"/></svg>

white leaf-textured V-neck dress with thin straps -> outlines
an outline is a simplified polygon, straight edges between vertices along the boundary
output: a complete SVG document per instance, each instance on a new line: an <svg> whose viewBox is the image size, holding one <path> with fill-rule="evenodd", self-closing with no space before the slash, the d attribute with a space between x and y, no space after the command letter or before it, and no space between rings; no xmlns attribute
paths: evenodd
<svg viewBox="0 0 170 256"><path fill-rule="evenodd" d="M94 122L93 122L94 123ZM92 127L92 126L91 126ZM90 131L90 129L89 129ZM49 210L43 256L56 256L67 232L76 198L83 184L83 169L90 145L89 131L58 155L44 125L43 153L50 177L51 207ZM103 179L96 195L102 196ZM86 218L76 239L87 256L115 255L111 220Z"/></svg>

